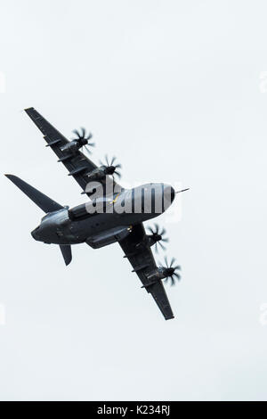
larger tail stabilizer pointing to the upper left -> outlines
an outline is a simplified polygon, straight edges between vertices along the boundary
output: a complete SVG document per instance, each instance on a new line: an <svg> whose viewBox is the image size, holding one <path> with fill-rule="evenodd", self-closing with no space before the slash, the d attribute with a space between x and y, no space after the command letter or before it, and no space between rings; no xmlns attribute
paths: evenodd
<svg viewBox="0 0 267 419"><path fill-rule="evenodd" d="M31 201L34 201L40 209L43 209L44 212L53 212L64 208L58 202L53 201L48 196L44 195L44 193L41 193L33 186L28 185L24 180L20 179L20 177L14 175L5 176L8 177L14 185L18 186L20 191L25 193Z"/></svg>

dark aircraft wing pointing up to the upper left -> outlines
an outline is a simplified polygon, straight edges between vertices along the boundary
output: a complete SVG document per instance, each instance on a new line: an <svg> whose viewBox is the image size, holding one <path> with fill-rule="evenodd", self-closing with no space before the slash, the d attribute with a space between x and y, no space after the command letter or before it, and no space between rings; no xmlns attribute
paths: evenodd
<svg viewBox="0 0 267 419"><path fill-rule="evenodd" d="M70 154L69 152L62 152L61 147L65 144L69 143L69 140L62 136L62 134L51 125L38 111L34 108L25 109L26 113L28 114L29 118L34 121L36 127L40 129L40 131L44 135L44 140L46 141L48 147L52 148L53 152L58 156L59 160L63 163L65 168L69 170L69 176L75 178L77 183L81 186L83 191L85 191L86 185L88 184L87 177L85 172L92 171L97 166L93 163L92 160L88 159L80 151L75 152L75 154ZM106 194L107 182L112 180L109 177L101 181L101 185L103 187L103 192L100 190L98 193L93 192L93 197L97 198L97 196L102 196L102 194ZM113 182L113 185L115 182ZM115 184L116 185L116 184ZM119 185L117 185L119 186ZM92 193L86 193L88 196L92 195Z"/></svg>

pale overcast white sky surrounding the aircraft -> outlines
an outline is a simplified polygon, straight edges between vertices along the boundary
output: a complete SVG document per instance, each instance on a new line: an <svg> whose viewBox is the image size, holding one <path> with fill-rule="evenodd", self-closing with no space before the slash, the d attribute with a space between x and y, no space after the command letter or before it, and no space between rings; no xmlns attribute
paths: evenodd
<svg viewBox="0 0 267 419"><path fill-rule="evenodd" d="M190 192L182 216L158 218L182 265L166 322L118 244L74 246L65 267L30 236L42 211L0 177L0 399L267 399L266 13L2 0L2 173L85 201L22 111L34 106L68 137L91 130L93 160L116 155L123 185Z"/></svg>

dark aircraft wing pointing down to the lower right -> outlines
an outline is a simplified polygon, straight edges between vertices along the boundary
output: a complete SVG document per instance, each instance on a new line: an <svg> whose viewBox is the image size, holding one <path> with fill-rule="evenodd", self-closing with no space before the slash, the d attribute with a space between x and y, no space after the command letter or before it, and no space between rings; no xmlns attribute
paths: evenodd
<svg viewBox="0 0 267 419"><path fill-rule="evenodd" d="M119 244L125 252L125 258L134 267L133 272L136 272L141 279L143 287L152 295L165 319L174 318L162 281L151 283L146 276L153 269L156 269L157 266L150 246L146 244L146 234L143 225L134 226L132 232L125 239L121 240Z"/></svg>

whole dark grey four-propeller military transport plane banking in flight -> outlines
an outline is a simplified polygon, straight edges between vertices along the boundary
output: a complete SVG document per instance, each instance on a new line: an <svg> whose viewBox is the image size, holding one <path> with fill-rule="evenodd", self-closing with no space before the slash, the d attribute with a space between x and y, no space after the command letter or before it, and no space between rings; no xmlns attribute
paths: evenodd
<svg viewBox="0 0 267 419"><path fill-rule="evenodd" d="M86 136L85 128L74 131L76 138L69 141L54 128L34 108L25 110L44 135L46 146L52 148L69 176L74 177L90 201L72 209L62 206L31 185L13 175L5 175L36 205L44 210L44 217L39 226L32 231L35 240L59 244L66 265L72 254L71 244L85 242L93 249L118 242L132 267L142 282L142 288L149 292L166 320L174 318L172 308L166 296L162 280L180 279L174 266L174 259L166 266L157 267L150 247L167 242L166 230L153 230L146 234L143 221L155 218L163 213L174 201L174 188L166 184L146 184L133 189L124 189L115 181L120 177L121 166L115 164L115 158L106 160L98 167L87 156L91 151L86 148L92 135ZM84 151L86 149L86 153ZM186 189L185 189L186 190ZM183 190L183 191L185 191ZM183 192L178 191L178 192ZM149 197L149 199L147 199Z"/></svg>

